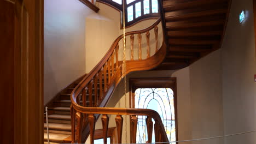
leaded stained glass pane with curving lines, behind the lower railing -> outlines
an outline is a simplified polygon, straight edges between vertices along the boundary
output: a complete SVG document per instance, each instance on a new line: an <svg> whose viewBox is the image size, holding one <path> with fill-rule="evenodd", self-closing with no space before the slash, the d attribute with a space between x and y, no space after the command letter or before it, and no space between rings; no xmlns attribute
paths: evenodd
<svg viewBox="0 0 256 144"><path fill-rule="evenodd" d="M135 91L135 108L152 109L159 113L169 141L176 141L174 97L171 88L138 88ZM148 140L146 116L138 116L137 143ZM152 119L154 123L154 119ZM155 142L153 130L152 142Z"/></svg>

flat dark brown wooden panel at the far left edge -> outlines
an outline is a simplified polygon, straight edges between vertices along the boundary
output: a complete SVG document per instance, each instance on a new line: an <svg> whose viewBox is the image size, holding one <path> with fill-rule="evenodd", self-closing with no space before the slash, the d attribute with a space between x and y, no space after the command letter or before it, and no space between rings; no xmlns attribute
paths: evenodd
<svg viewBox="0 0 256 144"><path fill-rule="evenodd" d="M0 143L14 143L14 4L0 1Z"/></svg>

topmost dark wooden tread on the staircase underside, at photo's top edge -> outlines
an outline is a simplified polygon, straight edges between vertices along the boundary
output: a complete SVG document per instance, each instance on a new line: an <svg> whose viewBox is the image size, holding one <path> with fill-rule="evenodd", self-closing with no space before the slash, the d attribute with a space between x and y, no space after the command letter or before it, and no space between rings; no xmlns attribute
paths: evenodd
<svg viewBox="0 0 256 144"><path fill-rule="evenodd" d="M184 3L173 3L172 1L164 1L163 7L164 11L173 11L179 9L187 9L187 8L194 8L200 7L200 5L211 5L216 3L225 3L228 2L227 0L195 0L191 2L184 2Z"/></svg>

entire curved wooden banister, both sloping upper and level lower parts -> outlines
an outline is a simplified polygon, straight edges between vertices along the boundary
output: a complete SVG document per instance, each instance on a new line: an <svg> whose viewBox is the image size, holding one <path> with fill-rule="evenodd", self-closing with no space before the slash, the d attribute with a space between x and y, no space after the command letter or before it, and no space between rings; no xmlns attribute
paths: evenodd
<svg viewBox="0 0 256 144"><path fill-rule="evenodd" d="M161 11L161 10L160 10ZM122 61L118 61L119 41L123 39L123 34L120 35L106 55L101 61L87 74L82 81L79 82L77 87L71 93L71 121L72 121L72 142L82 143L85 142L86 136L91 134L91 143L94 142L94 129L95 122L100 114L104 115L102 121L104 121L103 128L108 126L107 115L117 115L115 121L117 123L117 130L119 130L118 142L121 142L121 128L123 125L123 118L121 115L130 115L132 117L132 130L136 131L137 116L147 116L148 125L153 125L152 118L155 120L155 133L158 134L155 137L157 142L168 141L164 125L162 125L159 114L153 110L144 109L117 109L106 108L110 96L113 94L114 89L118 83L126 74L137 70L149 70L157 67L165 59L167 47L165 38L163 39L162 46L158 49L158 25L162 21L158 19L152 26L139 31L127 32L125 37L130 35L131 38L131 60L126 61L126 71L123 70ZM162 24L163 26L163 24ZM165 35L164 27L163 35ZM153 31L153 37L155 35L155 53L150 56L150 34L149 31ZM145 34L143 34L145 33ZM133 58L133 39L134 35L138 35L138 59ZM143 35L142 35L143 34ZM142 59L142 36L146 36L147 40L147 58ZM153 127L152 127L153 128ZM107 131L107 130L105 130ZM136 133L136 132L135 132ZM152 136L152 131L148 131L149 136ZM151 134L150 134L151 133ZM135 138L133 137L133 141ZM150 139L152 140L152 139Z"/></svg>

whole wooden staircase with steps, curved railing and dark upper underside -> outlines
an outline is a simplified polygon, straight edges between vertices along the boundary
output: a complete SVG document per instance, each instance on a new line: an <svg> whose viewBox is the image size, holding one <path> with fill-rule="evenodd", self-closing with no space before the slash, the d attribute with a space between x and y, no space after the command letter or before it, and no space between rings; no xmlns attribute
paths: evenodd
<svg viewBox="0 0 256 144"><path fill-rule="evenodd" d="M94 143L95 123L102 115L104 141L107 140L108 115L116 115L118 143L121 143L124 115L131 117L131 143L136 143L137 116L147 116L148 142L152 140L155 121L156 142L168 141L161 118L153 110L106 108L108 100L120 80L132 71L139 70L174 70L187 67L208 53L219 49L225 32L229 14L229 0L159 0L160 19L152 26L126 33L130 37L130 60L120 61L120 35L106 55L89 74L71 83L46 106L49 108L50 141L59 143L82 143L90 134ZM161 26L160 26L161 25ZM160 27L159 27L160 26ZM150 53L150 32L158 35L162 28L164 41L158 47L155 37L155 53ZM142 58L142 37L147 41L147 58ZM137 38L138 51L133 50ZM138 54L135 59L134 53ZM122 59L121 59L122 60ZM46 138L46 136L45 136ZM46 141L46 139L44 139Z"/></svg>

